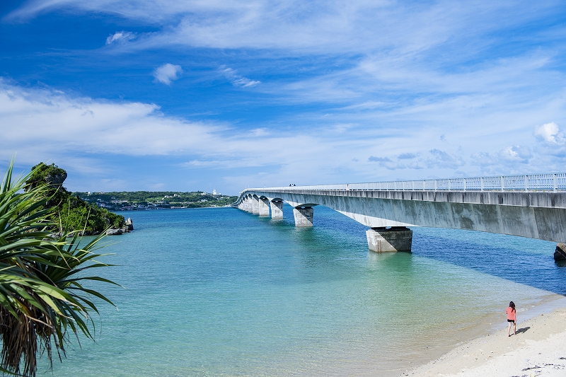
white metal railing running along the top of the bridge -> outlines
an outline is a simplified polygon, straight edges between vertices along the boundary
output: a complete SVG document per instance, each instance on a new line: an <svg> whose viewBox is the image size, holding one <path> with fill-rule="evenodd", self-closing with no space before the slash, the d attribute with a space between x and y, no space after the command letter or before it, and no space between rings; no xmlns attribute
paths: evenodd
<svg viewBox="0 0 566 377"><path fill-rule="evenodd" d="M248 189L248 190L266 190ZM269 187L269 190L383 190L383 191L566 191L566 173L499 175L495 177L453 178L442 180L395 180L391 182L345 183Z"/></svg>

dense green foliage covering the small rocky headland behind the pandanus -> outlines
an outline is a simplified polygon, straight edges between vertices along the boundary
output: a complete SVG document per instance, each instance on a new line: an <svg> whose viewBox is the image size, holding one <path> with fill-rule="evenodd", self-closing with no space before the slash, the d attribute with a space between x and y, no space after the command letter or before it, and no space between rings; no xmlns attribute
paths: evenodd
<svg viewBox="0 0 566 377"><path fill-rule="evenodd" d="M63 187L67 172L54 163L38 163L32 172L25 181L25 190L33 190L38 185L45 186L50 196L45 205L56 208L51 219L54 224L67 226L71 231L83 231L84 234L99 234L108 227L121 228L124 225L124 216L71 195Z"/></svg>

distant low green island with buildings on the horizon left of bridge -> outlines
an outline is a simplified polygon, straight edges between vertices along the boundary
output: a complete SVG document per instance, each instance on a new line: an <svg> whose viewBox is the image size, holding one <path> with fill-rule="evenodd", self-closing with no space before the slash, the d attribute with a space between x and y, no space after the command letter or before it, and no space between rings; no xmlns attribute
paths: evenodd
<svg viewBox="0 0 566 377"><path fill-rule="evenodd" d="M203 191L122 191L73 192L72 195L108 211L226 207L238 199L237 196L216 194L216 190L212 194Z"/></svg>

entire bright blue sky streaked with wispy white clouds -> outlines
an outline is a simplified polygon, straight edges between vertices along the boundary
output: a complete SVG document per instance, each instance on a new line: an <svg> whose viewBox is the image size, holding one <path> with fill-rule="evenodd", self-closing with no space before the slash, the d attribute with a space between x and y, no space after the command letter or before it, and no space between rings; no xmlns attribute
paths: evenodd
<svg viewBox="0 0 566 377"><path fill-rule="evenodd" d="M561 1L0 2L0 163L71 191L566 171Z"/></svg>

